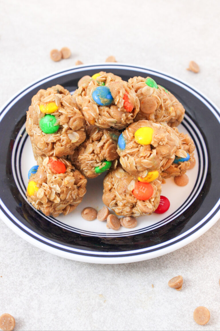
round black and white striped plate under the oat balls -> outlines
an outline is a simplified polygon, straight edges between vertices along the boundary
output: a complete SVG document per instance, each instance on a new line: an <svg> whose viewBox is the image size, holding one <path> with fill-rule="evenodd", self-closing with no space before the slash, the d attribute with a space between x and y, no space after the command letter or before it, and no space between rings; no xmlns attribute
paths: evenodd
<svg viewBox="0 0 220 331"><path fill-rule="evenodd" d="M134 229L107 229L106 222L82 219L86 206L100 209L104 174L88 180L87 193L77 209L57 218L36 211L25 197L27 173L36 162L25 132L26 111L41 88L60 84L73 92L78 80L99 71L128 80L150 76L170 90L186 109L179 125L193 138L196 166L187 172L189 184L178 187L173 178L162 185L171 207L164 214L138 218ZM220 217L219 110L204 95L165 73L124 64L82 65L55 73L28 86L0 111L0 217L19 236L56 255L91 263L125 263L151 259L172 252L198 238ZM218 145L217 145L218 146ZM213 162L215 160L215 162Z"/></svg>

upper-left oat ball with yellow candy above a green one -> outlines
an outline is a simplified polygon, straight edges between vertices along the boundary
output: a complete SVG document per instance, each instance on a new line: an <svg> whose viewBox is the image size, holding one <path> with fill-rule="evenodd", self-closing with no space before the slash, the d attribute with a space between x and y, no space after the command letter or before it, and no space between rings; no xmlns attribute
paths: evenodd
<svg viewBox="0 0 220 331"><path fill-rule="evenodd" d="M40 90L33 96L26 131L35 158L71 155L86 138L85 120L75 100L60 85Z"/></svg>

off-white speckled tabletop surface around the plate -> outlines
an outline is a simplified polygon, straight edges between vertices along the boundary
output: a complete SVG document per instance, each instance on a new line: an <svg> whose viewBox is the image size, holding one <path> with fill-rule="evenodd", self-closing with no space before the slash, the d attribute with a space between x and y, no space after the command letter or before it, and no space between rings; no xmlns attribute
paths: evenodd
<svg viewBox="0 0 220 331"><path fill-rule="evenodd" d="M183 79L220 105L220 2L0 0L0 103L54 71L118 61ZM54 63L52 48L73 55ZM186 71L190 60L201 72ZM0 222L0 314L15 330L219 330L220 226L169 255L132 264L65 260L31 246ZM182 291L168 280L181 274ZM151 284L154 284L152 288ZM206 326L193 320L205 306Z"/></svg>

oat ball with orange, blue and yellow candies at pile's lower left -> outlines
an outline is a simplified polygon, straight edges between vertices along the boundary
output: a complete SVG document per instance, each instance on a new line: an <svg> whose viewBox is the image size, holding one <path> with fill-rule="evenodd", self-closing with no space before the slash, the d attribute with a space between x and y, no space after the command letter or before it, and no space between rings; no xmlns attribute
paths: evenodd
<svg viewBox="0 0 220 331"><path fill-rule="evenodd" d="M27 200L45 215L67 215L82 201L87 179L64 158L46 157L29 171Z"/></svg>

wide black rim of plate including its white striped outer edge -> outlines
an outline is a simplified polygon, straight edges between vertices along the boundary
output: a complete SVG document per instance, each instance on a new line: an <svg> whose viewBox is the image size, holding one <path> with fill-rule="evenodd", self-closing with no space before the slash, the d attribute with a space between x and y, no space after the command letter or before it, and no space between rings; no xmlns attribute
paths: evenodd
<svg viewBox="0 0 220 331"><path fill-rule="evenodd" d="M178 213L139 233L124 232L105 236L79 233L58 226L30 206L19 187L20 158L13 149L25 122L31 98L40 88L60 84L73 91L83 75L101 70L128 80L133 76L151 76L170 90L186 109L183 125L196 140L199 171L187 204ZM200 92L167 74L122 64L80 66L46 77L18 93L0 112L0 216L21 237L51 253L73 260L97 263L123 263L150 259L178 249L211 227L219 215L219 110ZM19 133L20 134L20 133ZM16 145L17 146L17 145ZM214 160L214 162L213 162ZM213 174L213 178L212 178ZM183 204L184 205L184 204Z"/></svg>

